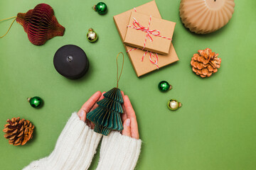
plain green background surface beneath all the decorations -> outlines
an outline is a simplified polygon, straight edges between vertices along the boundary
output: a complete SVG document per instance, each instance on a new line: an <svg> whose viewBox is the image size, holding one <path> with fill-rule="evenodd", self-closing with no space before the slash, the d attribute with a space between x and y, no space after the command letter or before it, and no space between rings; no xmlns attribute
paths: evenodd
<svg viewBox="0 0 256 170"><path fill-rule="evenodd" d="M0 169L22 169L46 157L70 114L95 91L116 85L115 57L125 50L112 17L148 1L105 0L109 8L105 16L92 11L97 1L0 1L0 18L16 16L39 3L50 4L66 28L63 37L36 46L15 22L0 40L0 127L18 116L36 126L33 140L22 147L9 145L0 132ZM256 1L235 1L228 25L208 35L196 35L183 26L179 3L156 1L162 18L177 23L173 42L179 62L137 78L124 56L119 87L132 101L143 140L137 169L255 169ZM0 35L10 23L0 23ZM90 27L99 35L96 43L85 38ZM90 70L82 79L65 79L53 67L55 51L67 44L82 47L90 60ZM201 79L192 72L190 61L206 47L218 52L222 63L216 74ZM173 89L161 93L157 87L161 80L169 81ZM43 108L32 108L26 101L29 96L41 96ZM171 98L181 101L182 108L169 111L166 103ZM90 169L95 169L98 158L99 152Z"/></svg>

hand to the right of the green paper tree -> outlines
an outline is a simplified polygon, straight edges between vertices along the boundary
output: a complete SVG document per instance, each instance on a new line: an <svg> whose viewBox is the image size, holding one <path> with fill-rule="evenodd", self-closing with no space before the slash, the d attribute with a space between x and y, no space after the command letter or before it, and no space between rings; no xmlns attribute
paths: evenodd
<svg viewBox="0 0 256 170"><path fill-rule="evenodd" d="M121 93L124 98L124 113L122 113L124 130L122 130L122 135L139 140L138 123L134 109L132 108L132 103L129 101L129 97L127 95L124 96L123 91L121 91Z"/></svg>

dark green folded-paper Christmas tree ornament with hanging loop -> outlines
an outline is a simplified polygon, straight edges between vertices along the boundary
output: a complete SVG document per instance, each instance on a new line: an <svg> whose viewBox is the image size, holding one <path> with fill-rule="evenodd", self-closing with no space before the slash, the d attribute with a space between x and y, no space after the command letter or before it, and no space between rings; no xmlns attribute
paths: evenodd
<svg viewBox="0 0 256 170"><path fill-rule="evenodd" d="M124 55L123 56L122 69L124 66ZM117 55L117 57L119 56ZM102 135L109 135L111 130L123 130L122 120L120 113L124 113L122 109L122 103L124 100L120 89L118 89L118 82L122 74L118 77L118 64L117 64L117 87L114 87L110 91L107 91L101 101L97 102L98 107L95 110L87 113L87 119L95 124L95 132L101 133Z"/></svg>

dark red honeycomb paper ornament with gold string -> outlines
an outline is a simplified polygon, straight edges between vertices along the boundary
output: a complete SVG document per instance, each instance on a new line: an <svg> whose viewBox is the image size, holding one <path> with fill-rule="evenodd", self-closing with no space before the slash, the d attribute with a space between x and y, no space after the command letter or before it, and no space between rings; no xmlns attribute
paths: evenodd
<svg viewBox="0 0 256 170"><path fill-rule="evenodd" d="M50 38L63 36L65 31L65 28L61 26L55 18L53 8L48 4L38 4L28 12L18 13L17 16L11 18L14 18L14 21L16 19L17 23L23 26L25 32L28 33L28 40L30 40L33 45L43 45ZM14 21L11 23L11 26Z"/></svg>

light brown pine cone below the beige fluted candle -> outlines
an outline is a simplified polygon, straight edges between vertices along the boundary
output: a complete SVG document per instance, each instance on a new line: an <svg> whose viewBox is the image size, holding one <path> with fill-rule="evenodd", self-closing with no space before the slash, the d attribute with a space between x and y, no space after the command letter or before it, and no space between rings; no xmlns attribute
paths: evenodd
<svg viewBox="0 0 256 170"><path fill-rule="evenodd" d="M193 72L201 77L210 77L213 73L220 68L221 59L218 54L212 52L209 48L206 50L198 50L191 60Z"/></svg>

